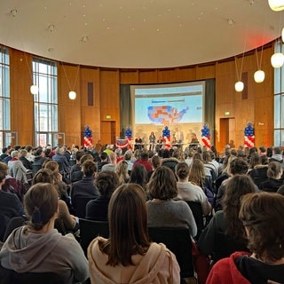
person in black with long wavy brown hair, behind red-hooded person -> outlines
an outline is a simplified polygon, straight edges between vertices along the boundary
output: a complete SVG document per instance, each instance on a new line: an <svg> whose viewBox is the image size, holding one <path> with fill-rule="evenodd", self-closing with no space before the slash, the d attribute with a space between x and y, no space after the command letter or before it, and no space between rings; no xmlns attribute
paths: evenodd
<svg viewBox="0 0 284 284"><path fill-rule="evenodd" d="M239 219L241 197L255 193L255 185L246 175L235 175L225 185L224 209L217 211L201 233L198 247L214 263L235 250L248 250L244 228Z"/></svg>

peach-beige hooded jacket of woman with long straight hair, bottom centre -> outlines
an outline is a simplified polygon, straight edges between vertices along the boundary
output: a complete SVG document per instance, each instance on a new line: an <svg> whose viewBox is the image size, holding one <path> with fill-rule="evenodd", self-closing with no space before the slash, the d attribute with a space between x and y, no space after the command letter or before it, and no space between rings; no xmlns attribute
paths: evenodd
<svg viewBox="0 0 284 284"><path fill-rule="evenodd" d="M159 278L158 274L164 270L164 262L170 256L170 251L162 243L152 243L145 256L132 256L134 263L130 270L124 266L117 265L112 272L106 270L107 256L103 255L99 250L99 239L91 242L88 248L88 259L90 271L96 275L96 284L115 284L115 283L132 283L132 284L151 284ZM173 259L170 259L172 266ZM108 267L111 267L107 265ZM171 275L172 277L172 275ZM91 277L92 278L92 277ZM156 282L155 283L159 283ZM171 279L170 283L173 283Z"/></svg>

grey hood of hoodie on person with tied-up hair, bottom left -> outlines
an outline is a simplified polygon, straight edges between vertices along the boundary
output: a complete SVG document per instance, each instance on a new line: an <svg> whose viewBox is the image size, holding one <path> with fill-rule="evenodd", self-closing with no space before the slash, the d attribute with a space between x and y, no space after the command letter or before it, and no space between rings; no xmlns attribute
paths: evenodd
<svg viewBox="0 0 284 284"><path fill-rule="evenodd" d="M19 273L31 271L48 257L60 237L55 229L48 233L28 233L27 226L17 228L1 249L1 264Z"/></svg>

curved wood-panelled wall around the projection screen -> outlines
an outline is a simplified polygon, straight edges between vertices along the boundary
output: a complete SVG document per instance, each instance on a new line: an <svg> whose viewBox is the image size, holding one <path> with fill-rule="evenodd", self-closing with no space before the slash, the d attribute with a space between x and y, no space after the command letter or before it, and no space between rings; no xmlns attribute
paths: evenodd
<svg viewBox="0 0 284 284"><path fill-rule="evenodd" d="M69 87L75 83L77 66L58 63L59 74L59 132L64 132L66 144L83 144L83 129L86 124L93 131L94 143L106 144L120 134L119 90L121 83L177 83L185 81L216 79L216 129L215 141L218 151L233 139L236 146L243 145L244 128L253 122L256 146L271 146L273 143L273 68L270 58L272 44L264 47L262 69L264 83L255 83L256 53L249 52L243 58L242 75L246 91L234 91L237 81L234 59L190 67L167 69L113 69L80 67L75 84L77 98L68 99ZM19 144L33 143L32 95L29 92L31 75L28 69L33 56L10 49L12 131L18 131ZM240 72L242 57L238 57ZM247 78L247 79L246 79ZM93 86L90 98L88 83ZM90 105L91 99L91 105ZM224 132L226 130L226 137ZM112 135L112 132L113 135Z"/></svg>

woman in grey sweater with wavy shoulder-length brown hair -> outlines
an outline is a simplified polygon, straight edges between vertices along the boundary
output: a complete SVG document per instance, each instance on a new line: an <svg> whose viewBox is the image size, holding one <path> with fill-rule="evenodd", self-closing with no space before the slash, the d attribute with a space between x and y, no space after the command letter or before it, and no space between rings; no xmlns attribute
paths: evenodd
<svg viewBox="0 0 284 284"><path fill-rule="evenodd" d="M177 197L177 180L172 170L159 167L147 187L154 198L146 202L148 227L185 227L195 237L197 227L192 210L185 201L174 200Z"/></svg>

